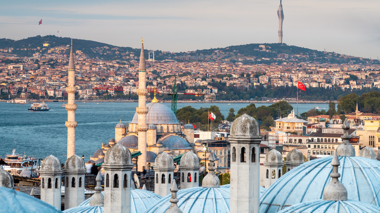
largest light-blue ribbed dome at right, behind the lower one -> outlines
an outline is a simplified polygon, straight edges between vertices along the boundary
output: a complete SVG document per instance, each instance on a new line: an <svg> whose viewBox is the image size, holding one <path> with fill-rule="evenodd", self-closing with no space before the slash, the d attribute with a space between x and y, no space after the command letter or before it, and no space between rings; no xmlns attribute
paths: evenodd
<svg viewBox="0 0 380 213"><path fill-rule="evenodd" d="M331 181L332 158L305 162L275 181L260 199L260 213L275 213L297 203L322 199ZM339 180L349 192L348 199L379 206L380 162L361 157L339 160Z"/></svg>

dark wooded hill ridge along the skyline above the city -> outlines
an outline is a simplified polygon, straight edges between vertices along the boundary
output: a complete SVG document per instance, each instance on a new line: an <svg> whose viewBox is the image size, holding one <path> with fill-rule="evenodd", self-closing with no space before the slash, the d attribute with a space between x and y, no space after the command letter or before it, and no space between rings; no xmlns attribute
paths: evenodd
<svg viewBox="0 0 380 213"><path fill-rule="evenodd" d="M48 43L48 48L43 48L43 44ZM48 53L54 47L70 45L71 38L58 37L55 35L40 35L28 37L20 40L7 38L0 39L0 49L13 48L12 54L19 57L31 57L34 53ZM131 47L117 47L114 45L84 40L73 39L75 50L80 50L90 58L103 60L126 60L130 54L139 53L140 49ZM39 48L39 49L38 49ZM37 50L36 50L37 49ZM67 50L69 53L70 50ZM149 50L145 50L148 57ZM243 64L281 64L283 62L316 62L329 64L380 64L379 60L360 58L339 53L330 53L312 50L279 43L245 44L235 45L225 48L213 48L196 50L190 52L170 53L154 51L155 60L175 60L178 62L193 61L224 61L241 62Z"/></svg>

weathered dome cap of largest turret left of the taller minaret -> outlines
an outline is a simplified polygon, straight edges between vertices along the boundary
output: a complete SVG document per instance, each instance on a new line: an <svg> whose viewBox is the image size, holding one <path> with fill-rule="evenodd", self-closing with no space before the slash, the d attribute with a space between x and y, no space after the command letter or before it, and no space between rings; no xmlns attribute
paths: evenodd
<svg viewBox="0 0 380 213"><path fill-rule="evenodd" d="M106 164L132 164L131 152L120 144L116 144L105 154L104 163Z"/></svg>

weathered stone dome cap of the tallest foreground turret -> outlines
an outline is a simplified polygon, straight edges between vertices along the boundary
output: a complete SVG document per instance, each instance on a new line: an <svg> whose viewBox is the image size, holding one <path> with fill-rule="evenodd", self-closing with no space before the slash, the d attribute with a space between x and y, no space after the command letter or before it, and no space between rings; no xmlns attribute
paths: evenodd
<svg viewBox="0 0 380 213"><path fill-rule="evenodd" d="M260 125L256 119L243 114L232 122L230 132L232 138L255 138L260 136Z"/></svg>

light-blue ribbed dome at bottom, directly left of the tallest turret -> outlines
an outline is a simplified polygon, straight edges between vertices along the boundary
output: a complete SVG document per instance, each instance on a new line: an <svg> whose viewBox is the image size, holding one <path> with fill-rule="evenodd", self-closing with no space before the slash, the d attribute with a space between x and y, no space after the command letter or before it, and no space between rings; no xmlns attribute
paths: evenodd
<svg viewBox="0 0 380 213"><path fill-rule="evenodd" d="M184 213L229 213L228 188L193 187L177 192L177 205ZM166 195L154 203L145 213L165 213L171 203L171 195Z"/></svg>

